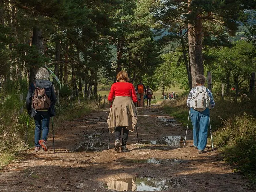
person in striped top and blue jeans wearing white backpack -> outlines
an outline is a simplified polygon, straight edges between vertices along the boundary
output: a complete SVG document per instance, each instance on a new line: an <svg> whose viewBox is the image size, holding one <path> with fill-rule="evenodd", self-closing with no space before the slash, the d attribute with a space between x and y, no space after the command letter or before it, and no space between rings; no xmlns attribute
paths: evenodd
<svg viewBox="0 0 256 192"><path fill-rule="evenodd" d="M196 87L192 88L187 99L190 119L193 125L194 148L203 153L207 144L210 109L214 108L212 92L204 87L205 77L196 76Z"/></svg>

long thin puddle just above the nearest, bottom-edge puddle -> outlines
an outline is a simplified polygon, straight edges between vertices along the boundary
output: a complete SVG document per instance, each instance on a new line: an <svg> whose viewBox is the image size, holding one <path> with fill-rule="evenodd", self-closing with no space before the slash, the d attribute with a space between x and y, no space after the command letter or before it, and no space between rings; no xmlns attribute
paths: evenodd
<svg viewBox="0 0 256 192"><path fill-rule="evenodd" d="M185 161L180 159L161 159L161 158L149 158L149 159L117 159L117 162L122 163L151 163L151 164L161 164L165 162L171 162L172 164L180 164Z"/></svg>

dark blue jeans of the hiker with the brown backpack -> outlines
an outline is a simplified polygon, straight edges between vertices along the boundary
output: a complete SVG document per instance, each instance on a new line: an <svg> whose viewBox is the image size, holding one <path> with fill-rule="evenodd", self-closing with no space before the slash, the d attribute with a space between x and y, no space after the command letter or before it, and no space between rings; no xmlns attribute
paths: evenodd
<svg viewBox="0 0 256 192"><path fill-rule="evenodd" d="M49 133L49 122L50 122L50 114L48 111L37 111L34 116L35 119L35 146L40 147L39 140L41 139L41 131L42 131L42 139L47 140L47 136Z"/></svg>

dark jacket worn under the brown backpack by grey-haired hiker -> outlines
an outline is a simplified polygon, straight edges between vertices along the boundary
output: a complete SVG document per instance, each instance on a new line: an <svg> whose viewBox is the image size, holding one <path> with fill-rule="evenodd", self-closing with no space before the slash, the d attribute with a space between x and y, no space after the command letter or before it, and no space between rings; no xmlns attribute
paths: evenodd
<svg viewBox="0 0 256 192"><path fill-rule="evenodd" d="M57 98L53 90L53 83L51 81L44 80L44 79L39 79L39 80L35 79L34 81L36 82L36 87L45 89L46 95L50 98L52 102L50 108L48 109L50 116L51 117L56 116L54 105L57 101ZM26 97L26 106L27 106L27 110L30 111L31 113L31 117L34 117L37 113L37 111L34 108L32 108L32 98L34 97L34 94L35 94L35 86L32 83L29 86L28 94Z"/></svg>

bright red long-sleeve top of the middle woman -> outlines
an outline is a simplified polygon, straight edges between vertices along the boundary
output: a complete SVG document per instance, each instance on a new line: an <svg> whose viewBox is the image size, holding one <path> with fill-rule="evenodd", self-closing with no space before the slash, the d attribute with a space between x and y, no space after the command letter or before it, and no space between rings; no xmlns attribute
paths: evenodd
<svg viewBox="0 0 256 192"><path fill-rule="evenodd" d="M114 96L131 97L133 102L137 102L137 96L133 84L128 82L116 82L111 86L108 100L113 101Z"/></svg>

